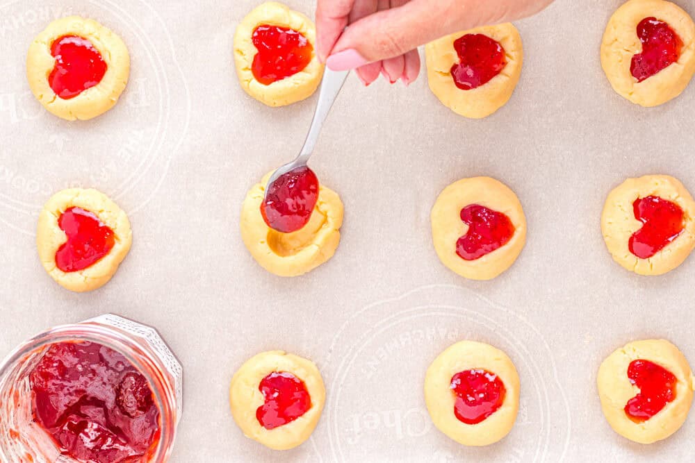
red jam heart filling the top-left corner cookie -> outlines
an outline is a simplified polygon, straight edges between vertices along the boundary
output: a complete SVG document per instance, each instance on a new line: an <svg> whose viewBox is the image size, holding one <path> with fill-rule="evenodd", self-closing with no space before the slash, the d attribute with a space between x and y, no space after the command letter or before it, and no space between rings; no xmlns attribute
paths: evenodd
<svg viewBox="0 0 695 463"><path fill-rule="evenodd" d="M48 76L56 95L67 100L101 82L106 62L92 42L76 35L64 35L51 45L56 66Z"/></svg>

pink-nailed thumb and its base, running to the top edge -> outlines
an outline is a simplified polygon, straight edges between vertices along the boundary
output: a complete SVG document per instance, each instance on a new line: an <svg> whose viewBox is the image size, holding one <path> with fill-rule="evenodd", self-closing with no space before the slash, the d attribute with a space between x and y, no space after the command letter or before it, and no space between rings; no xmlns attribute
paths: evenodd
<svg viewBox="0 0 695 463"><path fill-rule="evenodd" d="M457 31L520 19L551 1L411 0L351 24L333 47L327 65L343 71L393 58Z"/></svg>

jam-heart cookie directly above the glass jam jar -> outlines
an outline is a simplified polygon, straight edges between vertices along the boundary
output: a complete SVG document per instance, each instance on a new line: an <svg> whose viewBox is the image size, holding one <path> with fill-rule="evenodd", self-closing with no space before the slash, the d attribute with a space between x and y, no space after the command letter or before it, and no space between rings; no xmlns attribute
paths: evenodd
<svg viewBox="0 0 695 463"><path fill-rule="evenodd" d="M44 269L70 291L106 285L131 247L128 216L97 190L54 194L39 214L36 245Z"/></svg>

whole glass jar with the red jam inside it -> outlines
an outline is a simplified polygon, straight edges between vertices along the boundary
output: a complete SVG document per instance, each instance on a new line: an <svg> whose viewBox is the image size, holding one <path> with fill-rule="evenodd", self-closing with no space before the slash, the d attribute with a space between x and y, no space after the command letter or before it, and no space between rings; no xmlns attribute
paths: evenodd
<svg viewBox="0 0 695 463"><path fill-rule="evenodd" d="M42 332L0 366L0 462L166 462L181 382L149 326L106 314Z"/></svg>

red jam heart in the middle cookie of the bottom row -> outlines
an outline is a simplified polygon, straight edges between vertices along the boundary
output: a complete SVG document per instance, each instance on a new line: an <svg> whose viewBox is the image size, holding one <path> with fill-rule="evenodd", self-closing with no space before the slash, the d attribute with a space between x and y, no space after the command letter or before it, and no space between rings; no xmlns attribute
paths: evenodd
<svg viewBox="0 0 695 463"><path fill-rule="evenodd" d="M454 414L461 423L477 424L505 402L507 389L500 378L482 369L456 373L450 385L456 394Z"/></svg>

